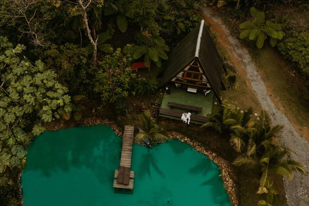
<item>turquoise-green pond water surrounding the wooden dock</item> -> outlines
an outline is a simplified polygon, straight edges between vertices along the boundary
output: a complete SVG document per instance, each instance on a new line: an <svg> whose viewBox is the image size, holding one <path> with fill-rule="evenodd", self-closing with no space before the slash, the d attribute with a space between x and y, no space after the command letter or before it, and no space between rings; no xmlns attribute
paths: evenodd
<svg viewBox="0 0 309 206"><path fill-rule="evenodd" d="M217 166L186 143L133 146L133 194L114 193L122 139L99 125L44 132L29 147L26 206L230 205ZM168 203L169 201L169 203Z"/></svg>

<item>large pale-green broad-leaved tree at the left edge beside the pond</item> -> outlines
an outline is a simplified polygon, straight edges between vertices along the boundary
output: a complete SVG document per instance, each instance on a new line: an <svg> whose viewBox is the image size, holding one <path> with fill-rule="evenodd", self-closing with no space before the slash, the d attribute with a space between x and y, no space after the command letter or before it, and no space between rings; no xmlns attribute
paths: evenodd
<svg viewBox="0 0 309 206"><path fill-rule="evenodd" d="M26 166L27 146L44 131L42 123L72 110L68 88L57 83L57 74L42 61L32 65L22 57L25 49L0 37L0 186L8 182L7 166Z"/></svg>

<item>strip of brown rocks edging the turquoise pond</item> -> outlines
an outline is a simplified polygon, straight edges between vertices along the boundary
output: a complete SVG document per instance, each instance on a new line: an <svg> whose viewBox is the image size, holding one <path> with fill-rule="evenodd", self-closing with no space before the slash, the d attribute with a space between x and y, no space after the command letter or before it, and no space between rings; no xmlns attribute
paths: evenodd
<svg viewBox="0 0 309 206"><path fill-rule="evenodd" d="M55 131L63 128L69 129L70 127L74 126L95 126L99 124L107 125L109 128L111 128L118 136L122 137L123 135L123 129L121 129L118 124L112 120L102 120L100 118L85 118L83 120L80 120L78 122L69 122L69 124L47 124L45 125L45 129L47 131ZM222 181L224 183L224 186L226 188L226 191L229 195L230 202L234 206L238 206L239 199L238 199L238 191L235 184L235 179L233 179L233 169L231 167L231 163L226 161L224 158L220 157L220 155L216 154L213 151L210 151L209 149L206 149L204 146L201 146L201 143L195 140L191 140L190 138L186 137L180 132L169 132L169 137L171 139L178 139L182 142L186 142L188 145L196 149L199 153L204 154L207 156L211 161L213 161L221 170L221 177ZM138 145L145 145L143 141L137 140L136 134L134 136L134 143ZM153 144L161 144L163 142L157 142ZM146 145L145 145L146 146Z"/></svg>

